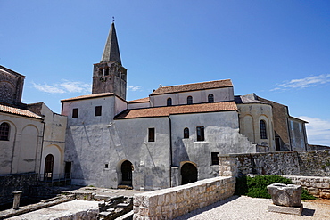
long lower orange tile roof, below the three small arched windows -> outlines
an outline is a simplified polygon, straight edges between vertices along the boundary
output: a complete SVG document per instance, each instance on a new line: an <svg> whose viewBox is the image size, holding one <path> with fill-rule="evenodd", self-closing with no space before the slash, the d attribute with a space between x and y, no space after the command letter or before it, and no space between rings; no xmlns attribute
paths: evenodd
<svg viewBox="0 0 330 220"><path fill-rule="evenodd" d="M205 113L237 110L235 102L214 102L191 105L177 105L137 110L125 110L115 119L166 117L174 114Z"/></svg>

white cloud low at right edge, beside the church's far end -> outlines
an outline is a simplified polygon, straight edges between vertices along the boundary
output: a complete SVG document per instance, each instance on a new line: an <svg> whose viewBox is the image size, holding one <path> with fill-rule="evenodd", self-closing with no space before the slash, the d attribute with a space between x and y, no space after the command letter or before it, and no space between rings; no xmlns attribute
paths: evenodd
<svg viewBox="0 0 330 220"><path fill-rule="evenodd" d="M310 144L321 144L330 146L330 120L320 118L299 117L309 122L306 124L308 141Z"/></svg>

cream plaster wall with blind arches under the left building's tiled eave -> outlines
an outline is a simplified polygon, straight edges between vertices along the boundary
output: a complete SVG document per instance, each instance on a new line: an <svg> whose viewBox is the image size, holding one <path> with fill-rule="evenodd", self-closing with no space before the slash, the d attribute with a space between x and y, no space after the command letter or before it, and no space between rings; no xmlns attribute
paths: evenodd
<svg viewBox="0 0 330 220"><path fill-rule="evenodd" d="M9 123L9 141L0 141L0 174L39 172L42 119L0 113L0 124Z"/></svg>

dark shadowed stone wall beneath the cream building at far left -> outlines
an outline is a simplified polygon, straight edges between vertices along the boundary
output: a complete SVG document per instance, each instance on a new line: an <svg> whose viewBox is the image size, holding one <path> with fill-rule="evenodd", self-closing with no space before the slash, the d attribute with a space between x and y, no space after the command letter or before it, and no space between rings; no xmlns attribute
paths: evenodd
<svg viewBox="0 0 330 220"><path fill-rule="evenodd" d="M37 174L0 175L0 205L12 202L12 191L23 191L21 196L29 194L29 187L37 184Z"/></svg>

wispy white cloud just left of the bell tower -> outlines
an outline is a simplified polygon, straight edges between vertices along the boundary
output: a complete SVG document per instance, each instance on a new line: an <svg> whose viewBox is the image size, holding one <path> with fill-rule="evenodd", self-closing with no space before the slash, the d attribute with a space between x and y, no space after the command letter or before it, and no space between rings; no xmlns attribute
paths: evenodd
<svg viewBox="0 0 330 220"><path fill-rule="evenodd" d="M83 82L72 82L63 79L61 83L54 83L53 85L36 84L32 82L32 86L41 92L48 94L64 94L64 93L88 93L92 89L92 86Z"/></svg>

